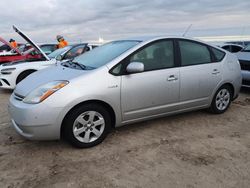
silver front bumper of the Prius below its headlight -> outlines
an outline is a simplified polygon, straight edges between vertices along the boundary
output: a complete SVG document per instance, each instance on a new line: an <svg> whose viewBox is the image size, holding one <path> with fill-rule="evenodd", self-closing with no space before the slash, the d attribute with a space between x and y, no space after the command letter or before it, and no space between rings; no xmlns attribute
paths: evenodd
<svg viewBox="0 0 250 188"><path fill-rule="evenodd" d="M49 109L49 110L48 110ZM10 97L9 114L15 130L30 140L60 139L58 117L62 108L51 108L40 104L25 104L17 100L14 94Z"/></svg>

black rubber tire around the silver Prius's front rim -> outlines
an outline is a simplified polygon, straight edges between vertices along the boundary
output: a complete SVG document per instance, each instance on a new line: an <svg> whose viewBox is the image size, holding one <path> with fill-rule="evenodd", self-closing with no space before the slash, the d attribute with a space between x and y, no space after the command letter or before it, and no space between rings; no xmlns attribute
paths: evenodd
<svg viewBox="0 0 250 188"><path fill-rule="evenodd" d="M73 124L76 118L80 114L86 111L92 111L92 110L100 113L103 116L104 121L105 121L105 128L104 128L102 135L97 140L91 143L83 143L83 142L80 142L77 138L75 138L74 133L73 133ZM111 118L110 118L109 112L104 107L102 107L101 105L97 105L97 104L85 104L85 105L82 105L73 109L66 116L63 122L63 136L71 145L77 148L89 148L89 147L93 147L93 146L100 144L106 138L110 129L111 129Z"/></svg>

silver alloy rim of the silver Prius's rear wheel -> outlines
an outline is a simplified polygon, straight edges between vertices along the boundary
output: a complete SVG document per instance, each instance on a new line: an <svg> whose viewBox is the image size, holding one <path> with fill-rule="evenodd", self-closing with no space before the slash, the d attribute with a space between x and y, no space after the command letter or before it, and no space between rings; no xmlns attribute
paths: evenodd
<svg viewBox="0 0 250 188"><path fill-rule="evenodd" d="M230 93L227 89L222 89L216 96L216 107L218 110L225 110L230 103Z"/></svg>

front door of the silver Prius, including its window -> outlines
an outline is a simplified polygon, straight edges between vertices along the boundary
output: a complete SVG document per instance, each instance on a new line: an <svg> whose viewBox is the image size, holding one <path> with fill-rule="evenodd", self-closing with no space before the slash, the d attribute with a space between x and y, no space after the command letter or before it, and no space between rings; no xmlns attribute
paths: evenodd
<svg viewBox="0 0 250 188"><path fill-rule="evenodd" d="M175 66L172 40L154 42L128 58L141 62L144 72L122 76L123 121L136 120L177 110L179 67Z"/></svg>

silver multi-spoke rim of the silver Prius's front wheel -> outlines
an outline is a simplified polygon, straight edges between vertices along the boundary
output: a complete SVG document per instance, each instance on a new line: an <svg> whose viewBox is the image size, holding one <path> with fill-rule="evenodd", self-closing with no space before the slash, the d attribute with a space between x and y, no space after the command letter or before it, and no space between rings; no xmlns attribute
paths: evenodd
<svg viewBox="0 0 250 188"><path fill-rule="evenodd" d="M103 133L105 121L96 111L87 111L79 115L73 125L73 133L77 140L90 143L97 140Z"/></svg>

